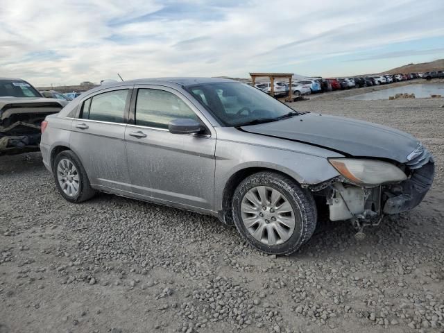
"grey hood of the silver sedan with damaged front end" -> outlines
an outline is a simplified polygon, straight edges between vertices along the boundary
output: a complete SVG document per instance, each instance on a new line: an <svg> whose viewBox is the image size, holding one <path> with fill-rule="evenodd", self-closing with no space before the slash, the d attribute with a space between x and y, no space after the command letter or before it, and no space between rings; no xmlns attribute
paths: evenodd
<svg viewBox="0 0 444 333"><path fill-rule="evenodd" d="M420 144L415 137L400 130L325 114L300 114L241 129L329 148L343 155L379 157L400 163L408 162L407 155Z"/></svg>

